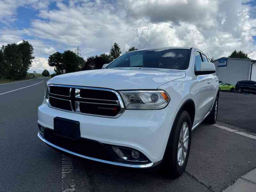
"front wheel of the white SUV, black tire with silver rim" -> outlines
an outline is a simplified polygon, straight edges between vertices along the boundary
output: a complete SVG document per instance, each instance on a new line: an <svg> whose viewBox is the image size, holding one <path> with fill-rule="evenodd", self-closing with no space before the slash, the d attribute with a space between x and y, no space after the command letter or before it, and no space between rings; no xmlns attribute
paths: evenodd
<svg viewBox="0 0 256 192"><path fill-rule="evenodd" d="M183 129L185 129L185 133ZM190 116L187 111L182 110L173 124L161 164L161 170L166 176L177 178L185 171L191 145L191 132ZM186 147L187 152L185 152Z"/></svg>

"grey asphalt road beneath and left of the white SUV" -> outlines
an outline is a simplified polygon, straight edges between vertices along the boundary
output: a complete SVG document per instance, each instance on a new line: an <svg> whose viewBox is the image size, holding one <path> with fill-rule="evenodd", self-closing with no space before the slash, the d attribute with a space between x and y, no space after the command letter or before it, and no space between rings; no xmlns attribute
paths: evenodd
<svg viewBox="0 0 256 192"><path fill-rule="evenodd" d="M0 191L217 192L256 167L256 140L207 124L193 131L186 172L175 180L157 171L62 155L37 138L37 107L46 80L0 85ZM15 89L19 90L1 94Z"/></svg>

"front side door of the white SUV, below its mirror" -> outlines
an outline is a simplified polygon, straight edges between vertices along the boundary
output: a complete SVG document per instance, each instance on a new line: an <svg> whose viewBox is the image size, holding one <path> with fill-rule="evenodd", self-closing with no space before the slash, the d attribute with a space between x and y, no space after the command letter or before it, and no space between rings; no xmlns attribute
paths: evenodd
<svg viewBox="0 0 256 192"><path fill-rule="evenodd" d="M203 57L199 51L195 53L195 71L200 69L200 63L203 61ZM207 60L206 60L207 61ZM210 75L197 75L196 81L199 85L199 97L196 98L197 111L195 117L195 123L203 119L209 112L213 104L211 83L213 80L212 74ZM215 81L218 84L218 81Z"/></svg>

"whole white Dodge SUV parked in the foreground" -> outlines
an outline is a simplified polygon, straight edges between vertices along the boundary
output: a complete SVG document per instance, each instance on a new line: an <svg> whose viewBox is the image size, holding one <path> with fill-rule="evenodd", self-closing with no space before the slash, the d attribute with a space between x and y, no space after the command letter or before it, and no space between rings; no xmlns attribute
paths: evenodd
<svg viewBox="0 0 256 192"><path fill-rule="evenodd" d="M104 65L105 66L105 65ZM107 164L180 176L191 131L218 113L215 66L196 48L128 52L107 67L55 76L38 108L50 147Z"/></svg>

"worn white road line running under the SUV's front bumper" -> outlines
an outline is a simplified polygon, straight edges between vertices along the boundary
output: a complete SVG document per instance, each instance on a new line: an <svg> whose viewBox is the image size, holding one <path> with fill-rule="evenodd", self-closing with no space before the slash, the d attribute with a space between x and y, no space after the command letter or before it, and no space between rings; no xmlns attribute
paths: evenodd
<svg viewBox="0 0 256 192"><path fill-rule="evenodd" d="M76 185L74 180L68 180L68 174L73 171L72 157L62 154L61 157L61 178L62 178L62 192L75 191ZM71 182L71 183L70 183Z"/></svg>

